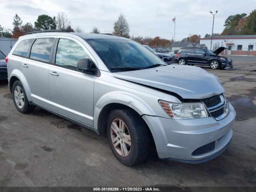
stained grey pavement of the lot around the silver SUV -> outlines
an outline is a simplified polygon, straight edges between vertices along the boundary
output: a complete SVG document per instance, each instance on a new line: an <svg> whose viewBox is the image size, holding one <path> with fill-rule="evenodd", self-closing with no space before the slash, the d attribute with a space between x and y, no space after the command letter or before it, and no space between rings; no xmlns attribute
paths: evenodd
<svg viewBox="0 0 256 192"><path fill-rule="evenodd" d="M36 108L19 113L0 82L0 186L256 186L256 62L210 70L226 89L237 117L230 147L204 164L150 156L126 167L106 137Z"/></svg>

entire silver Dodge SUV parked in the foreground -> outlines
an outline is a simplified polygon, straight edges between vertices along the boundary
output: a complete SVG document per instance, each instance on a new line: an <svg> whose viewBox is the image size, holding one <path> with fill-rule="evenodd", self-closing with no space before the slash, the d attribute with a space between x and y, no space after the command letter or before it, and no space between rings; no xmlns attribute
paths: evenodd
<svg viewBox="0 0 256 192"><path fill-rule="evenodd" d="M236 112L218 78L167 65L127 38L28 34L6 61L19 112L38 106L106 134L125 165L145 160L150 144L159 158L187 163L215 158L230 144Z"/></svg>

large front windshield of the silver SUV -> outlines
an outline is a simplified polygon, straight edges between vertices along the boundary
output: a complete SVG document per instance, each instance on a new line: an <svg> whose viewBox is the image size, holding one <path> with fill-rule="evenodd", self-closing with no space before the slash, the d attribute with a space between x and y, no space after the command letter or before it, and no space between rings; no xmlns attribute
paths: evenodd
<svg viewBox="0 0 256 192"><path fill-rule="evenodd" d="M167 65L141 44L123 39L86 39L110 72L141 70Z"/></svg>

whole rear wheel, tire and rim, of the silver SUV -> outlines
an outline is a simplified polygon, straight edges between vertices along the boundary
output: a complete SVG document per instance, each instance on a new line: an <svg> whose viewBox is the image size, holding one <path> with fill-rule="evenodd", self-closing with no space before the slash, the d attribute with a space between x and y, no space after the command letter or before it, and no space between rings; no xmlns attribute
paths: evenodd
<svg viewBox="0 0 256 192"><path fill-rule="evenodd" d="M34 110L34 106L30 105L26 92L19 80L15 81L12 86L12 97L16 109L21 113L30 113Z"/></svg>

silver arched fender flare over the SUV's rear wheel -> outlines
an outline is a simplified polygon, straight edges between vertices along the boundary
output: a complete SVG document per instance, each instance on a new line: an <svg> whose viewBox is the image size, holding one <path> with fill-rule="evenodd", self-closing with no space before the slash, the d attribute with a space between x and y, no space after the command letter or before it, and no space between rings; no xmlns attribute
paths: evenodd
<svg viewBox="0 0 256 192"><path fill-rule="evenodd" d="M13 77L16 77L16 78L18 78L20 80L20 82L21 82L21 84L22 84L22 86L23 86L23 88L24 88L24 90L26 92L26 96L28 98L28 101L31 101L32 100L32 98L31 98L31 90L30 90L30 88L28 86L28 82L27 82L25 76L22 74L22 72L20 70L18 70L18 69L12 70L12 72L10 73L10 76L8 77L10 91L12 91L11 90L12 88L10 87L10 82L11 82Z"/></svg>

